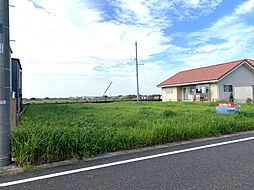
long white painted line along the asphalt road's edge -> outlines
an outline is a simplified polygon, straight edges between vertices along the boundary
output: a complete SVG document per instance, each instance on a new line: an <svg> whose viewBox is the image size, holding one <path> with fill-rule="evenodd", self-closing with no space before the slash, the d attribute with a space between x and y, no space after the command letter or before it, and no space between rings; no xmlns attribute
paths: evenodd
<svg viewBox="0 0 254 190"><path fill-rule="evenodd" d="M49 174L49 175L32 177L32 178L28 178L28 179L11 181L11 182L6 182L6 183L1 183L0 187L7 187L7 186L18 185L18 184L22 184L22 183L29 183L29 182L43 180L43 179L49 179L49 178L54 178L54 177L59 177L59 176L64 176L64 175L69 175L69 174L75 174L75 173L80 173L80 172L85 172L85 171L90 171L90 170L95 170L95 169L100 169L100 168L117 166L117 165L127 164L127 163L131 163L131 162L149 160L149 159L159 158L159 157L163 157L163 156L169 156L169 155L173 155L173 154L191 152L191 151L195 151L195 150L201 150L201 149L223 146L223 145L239 143L239 142L244 142L244 141L250 141L250 140L254 140L254 137L248 137L248 138L237 139L237 140L232 140L232 141L220 142L220 143L215 143L215 144L187 148L187 149L183 149L183 150L176 150L176 151L172 151L172 152L155 154L155 155L151 155L151 156L144 156L144 157L140 157L140 158L133 158L133 159L129 159L129 160L122 160L122 161L112 162L112 163L108 163L108 164L91 166L91 167L87 167L87 168L80 168L80 169L69 170L69 171L64 171L64 172L59 172L59 173L54 173L54 174Z"/></svg>

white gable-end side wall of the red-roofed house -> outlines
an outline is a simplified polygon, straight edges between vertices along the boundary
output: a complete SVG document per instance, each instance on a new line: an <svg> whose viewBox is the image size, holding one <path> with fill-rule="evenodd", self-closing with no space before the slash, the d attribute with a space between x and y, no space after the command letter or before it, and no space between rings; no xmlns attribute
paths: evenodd
<svg viewBox="0 0 254 190"><path fill-rule="evenodd" d="M218 82L218 92L219 92L219 99L228 99L230 92L224 92L224 85L232 85L233 86L233 96L245 96L244 91L241 92L242 95L236 95L234 89L236 87L243 87L243 86L252 86L254 85L254 73L251 71L247 66L242 65L228 76L223 78L221 81Z"/></svg>

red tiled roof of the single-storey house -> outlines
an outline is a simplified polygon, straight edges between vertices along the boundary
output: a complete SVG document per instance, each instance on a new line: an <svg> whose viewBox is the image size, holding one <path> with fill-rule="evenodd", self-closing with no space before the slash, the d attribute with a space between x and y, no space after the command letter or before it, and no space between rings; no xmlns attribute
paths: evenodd
<svg viewBox="0 0 254 190"><path fill-rule="evenodd" d="M170 77L164 82L157 85L158 87L167 85L176 85L184 83L202 82L202 81L212 81L219 80L229 71L233 70L243 61L247 61L252 66L254 66L254 61L251 59L242 59L238 61L232 61L229 63L222 63L218 65L212 65L208 67L201 67L197 69L191 69L187 71L181 71L176 75Z"/></svg>

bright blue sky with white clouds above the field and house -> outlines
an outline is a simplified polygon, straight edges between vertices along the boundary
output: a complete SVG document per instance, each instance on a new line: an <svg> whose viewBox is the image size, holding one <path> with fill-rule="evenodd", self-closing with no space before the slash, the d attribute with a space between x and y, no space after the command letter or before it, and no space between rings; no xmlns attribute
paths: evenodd
<svg viewBox="0 0 254 190"><path fill-rule="evenodd" d="M10 0L23 97L158 94L179 71L254 59L254 0Z"/></svg>

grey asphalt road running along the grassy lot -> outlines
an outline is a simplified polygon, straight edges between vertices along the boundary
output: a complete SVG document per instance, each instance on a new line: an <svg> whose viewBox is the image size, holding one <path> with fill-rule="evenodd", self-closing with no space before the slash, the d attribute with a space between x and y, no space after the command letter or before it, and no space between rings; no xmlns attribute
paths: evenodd
<svg viewBox="0 0 254 190"><path fill-rule="evenodd" d="M169 148L114 156L16 176L0 177L0 185L47 174L160 156L99 169L40 179L1 189L254 189L254 140L179 152L190 148L254 137L237 135Z"/></svg>

